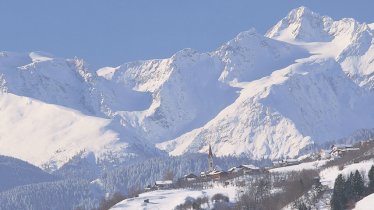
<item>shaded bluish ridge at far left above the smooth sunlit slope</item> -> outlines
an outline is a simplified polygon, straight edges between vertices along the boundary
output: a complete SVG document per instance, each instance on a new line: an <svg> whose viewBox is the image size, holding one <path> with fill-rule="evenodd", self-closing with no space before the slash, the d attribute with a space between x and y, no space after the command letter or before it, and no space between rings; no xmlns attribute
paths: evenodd
<svg viewBox="0 0 374 210"><path fill-rule="evenodd" d="M0 53L0 91L99 114L99 100L90 93L93 76L83 61L42 53Z"/></svg>

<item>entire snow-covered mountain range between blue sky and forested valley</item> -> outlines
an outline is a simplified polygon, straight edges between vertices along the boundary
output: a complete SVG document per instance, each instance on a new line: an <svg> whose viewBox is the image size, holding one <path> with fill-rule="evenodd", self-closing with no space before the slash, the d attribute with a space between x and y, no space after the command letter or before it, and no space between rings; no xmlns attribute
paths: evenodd
<svg viewBox="0 0 374 210"><path fill-rule="evenodd" d="M265 36L251 29L213 52L96 72L3 52L0 154L52 169L77 155L117 164L209 144L218 156L297 156L374 132L373 43L373 24L300 7Z"/></svg>

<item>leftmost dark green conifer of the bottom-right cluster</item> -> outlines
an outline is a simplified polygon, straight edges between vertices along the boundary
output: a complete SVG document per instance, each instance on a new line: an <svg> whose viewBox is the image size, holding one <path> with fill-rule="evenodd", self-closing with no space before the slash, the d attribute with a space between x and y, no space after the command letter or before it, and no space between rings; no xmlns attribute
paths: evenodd
<svg viewBox="0 0 374 210"><path fill-rule="evenodd" d="M339 176L335 179L334 190L330 203L332 210L342 210L345 208L347 199L344 195L344 185L345 180L343 175L339 174Z"/></svg>

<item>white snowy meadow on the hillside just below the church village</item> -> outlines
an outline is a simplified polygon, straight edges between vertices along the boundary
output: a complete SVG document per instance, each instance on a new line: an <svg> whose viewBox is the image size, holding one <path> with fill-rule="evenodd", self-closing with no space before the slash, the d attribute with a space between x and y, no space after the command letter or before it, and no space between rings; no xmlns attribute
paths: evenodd
<svg viewBox="0 0 374 210"><path fill-rule="evenodd" d="M126 199L116 204L111 208L111 210L172 210L179 204L184 203L186 198L188 197L212 197L217 193L228 196L230 201L235 201L236 199L236 188L232 186L215 187L202 191L188 189L157 190L153 192L142 193L139 195L139 197L136 198ZM144 200L146 199L149 199L149 203L144 202Z"/></svg>

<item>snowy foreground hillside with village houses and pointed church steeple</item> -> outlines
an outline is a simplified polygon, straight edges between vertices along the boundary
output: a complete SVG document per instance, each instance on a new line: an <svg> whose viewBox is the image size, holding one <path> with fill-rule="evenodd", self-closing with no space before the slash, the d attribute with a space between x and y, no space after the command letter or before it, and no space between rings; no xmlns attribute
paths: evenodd
<svg viewBox="0 0 374 210"><path fill-rule="evenodd" d="M175 179L164 177L113 209L186 210L212 206L235 210L330 209L334 181L339 173L353 176L356 171L368 179L370 167L374 168L374 140L353 145L333 144L329 148L298 159L276 160L269 167L242 164L222 170L214 165L209 146L207 167L200 174L187 173Z"/></svg>

